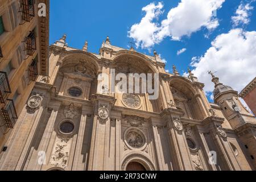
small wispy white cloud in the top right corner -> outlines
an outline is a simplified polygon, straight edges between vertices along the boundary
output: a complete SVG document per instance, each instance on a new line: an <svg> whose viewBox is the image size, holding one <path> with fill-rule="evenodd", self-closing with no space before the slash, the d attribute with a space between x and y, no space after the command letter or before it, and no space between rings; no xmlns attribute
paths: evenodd
<svg viewBox="0 0 256 182"><path fill-rule="evenodd" d="M232 16L234 26L238 26L239 24L248 24L250 22L250 10L253 10L253 6L250 6L250 3L247 3L246 5L241 3L236 11L236 16Z"/></svg>

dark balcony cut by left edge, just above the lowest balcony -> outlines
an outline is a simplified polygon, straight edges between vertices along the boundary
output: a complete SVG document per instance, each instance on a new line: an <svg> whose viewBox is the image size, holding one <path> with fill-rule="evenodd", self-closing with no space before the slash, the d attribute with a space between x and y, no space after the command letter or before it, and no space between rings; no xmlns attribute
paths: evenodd
<svg viewBox="0 0 256 182"><path fill-rule="evenodd" d="M6 72L0 72L0 104L5 104L11 93L11 88Z"/></svg>

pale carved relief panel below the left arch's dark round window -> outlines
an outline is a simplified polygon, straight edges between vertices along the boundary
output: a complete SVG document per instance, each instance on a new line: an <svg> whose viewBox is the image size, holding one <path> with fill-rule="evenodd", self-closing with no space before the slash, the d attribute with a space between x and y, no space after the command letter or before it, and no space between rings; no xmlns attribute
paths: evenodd
<svg viewBox="0 0 256 182"><path fill-rule="evenodd" d="M50 164L55 167L65 169L68 166L69 150L71 147L71 140L68 138L57 137L55 146L53 148Z"/></svg>

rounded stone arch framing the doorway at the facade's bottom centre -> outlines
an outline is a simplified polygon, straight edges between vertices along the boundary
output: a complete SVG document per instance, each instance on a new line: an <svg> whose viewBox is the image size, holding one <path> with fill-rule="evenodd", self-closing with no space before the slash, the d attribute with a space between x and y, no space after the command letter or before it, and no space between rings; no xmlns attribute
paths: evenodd
<svg viewBox="0 0 256 182"><path fill-rule="evenodd" d="M128 164L130 162L137 162L141 164L147 171L155 171L154 164L151 162L150 159L147 158L147 156L144 156L143 154L133 153L127 155L122 162L121 169L122 171L125 171Z"/></svg>

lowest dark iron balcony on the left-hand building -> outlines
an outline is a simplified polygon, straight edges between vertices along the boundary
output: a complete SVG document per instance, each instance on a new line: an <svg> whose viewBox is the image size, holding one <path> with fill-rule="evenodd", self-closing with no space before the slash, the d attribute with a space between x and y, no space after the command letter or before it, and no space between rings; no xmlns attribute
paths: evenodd
<svg viewBox="0 0 256 182"><path fill-rule="evenodd" d="M6 127L13 129L16 119L18 119L13 100L7 100L6 105L1 109L1 114Z"/></svg>

